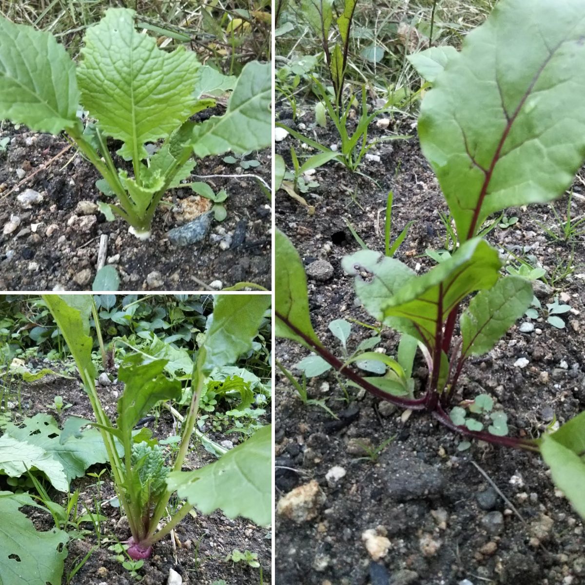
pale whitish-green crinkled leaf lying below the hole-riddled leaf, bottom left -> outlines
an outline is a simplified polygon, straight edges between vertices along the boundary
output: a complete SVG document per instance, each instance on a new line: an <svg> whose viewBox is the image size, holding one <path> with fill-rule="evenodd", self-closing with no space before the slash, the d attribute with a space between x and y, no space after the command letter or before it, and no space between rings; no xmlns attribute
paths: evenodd
<svg viewBox="0 0 585 585"><path fill-rule="evenodd" d="M20 477L27 470L42 471L53 487L67 491L69 484L63 465L43 448L9 435L0 437L0 470L9 477Z"/></svg>

